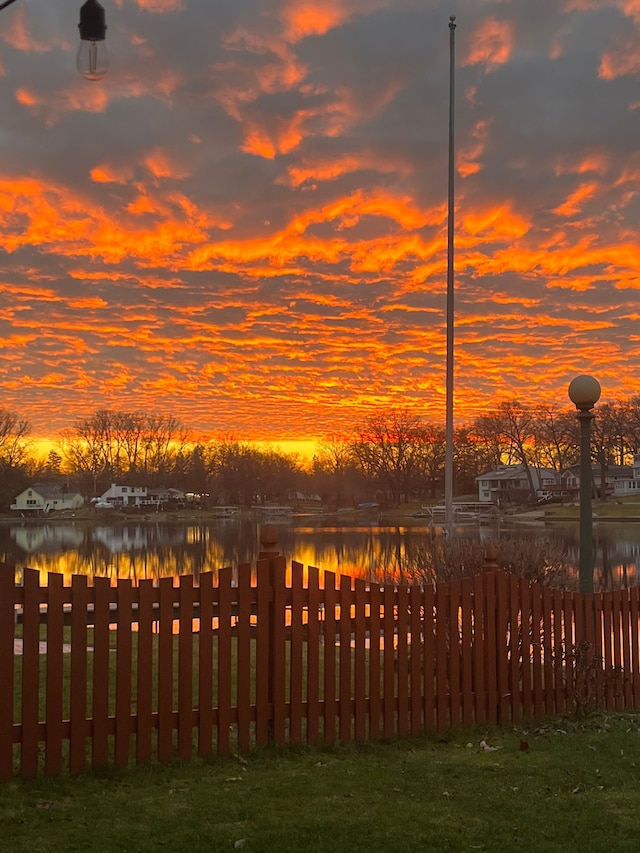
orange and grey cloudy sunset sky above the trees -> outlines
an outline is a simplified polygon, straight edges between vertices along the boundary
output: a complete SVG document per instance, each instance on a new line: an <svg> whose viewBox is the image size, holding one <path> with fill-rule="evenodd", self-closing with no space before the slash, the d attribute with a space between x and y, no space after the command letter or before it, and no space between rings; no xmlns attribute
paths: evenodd
<svg viewBox="0 0 640 853"><path fill-rule="evenodd" d="M0 12L0 408L313 439L640 393L640 0L80 0Z"/></svg>

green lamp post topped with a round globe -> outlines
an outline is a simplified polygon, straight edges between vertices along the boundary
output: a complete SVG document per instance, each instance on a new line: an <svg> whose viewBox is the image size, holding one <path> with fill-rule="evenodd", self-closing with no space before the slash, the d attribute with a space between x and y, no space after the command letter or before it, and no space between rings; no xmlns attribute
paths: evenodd
<svg viewBox="0 0 640 853"><path fill-rule="evenodd" d="M593 512L591 505L591 411L600 399L600 383L593 376L576 376L569 385L580 424L580 592L593 592Z"/></svg>

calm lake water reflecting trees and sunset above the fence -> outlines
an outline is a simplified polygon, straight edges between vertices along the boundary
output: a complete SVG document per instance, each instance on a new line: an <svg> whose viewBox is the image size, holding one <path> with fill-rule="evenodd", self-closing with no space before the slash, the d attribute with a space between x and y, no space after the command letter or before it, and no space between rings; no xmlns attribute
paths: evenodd
<svg viewBox="0 0 640 853"><path fill-rule="evenodd" d="M279 524L277 548L287 563L365 578L411 576L416 560L435 536L428 527L312 526ZM578 563L578 527L526 528L518 535L561 548L570 567ZM478 550L514 530L464 528ZM0 559L43 574L58 572L107 577L158 578L217 571L254 563L260 525L250 519L208 524L136 522L118 525L26 523L0 526ZM595 534L596 578L604 588L636 583L640 525L602 526Z"/></svg>

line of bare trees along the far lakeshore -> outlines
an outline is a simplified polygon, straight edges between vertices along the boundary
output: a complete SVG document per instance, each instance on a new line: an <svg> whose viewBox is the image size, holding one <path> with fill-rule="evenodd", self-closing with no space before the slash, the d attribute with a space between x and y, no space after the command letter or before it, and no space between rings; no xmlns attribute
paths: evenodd
<svg viewBox="0 0 640 853"><path fill-rule="evenodd" d="M599 405L595 413L592 456L604 474L610 465L629 464L640 448L640 397ZM210 504L246 506L257 500L290 502L295 495L318 495L336 507L368 500L397 506L443 492L444 427L409 409L383 412L327 435L312 460L232 437L194 441L185 425L168 415L100 410L65 430L44 461L35 455L30 431L28 421L0 411L2 508L35 481L58 482L86 497L102 494L114 482L174 486L203 495ZM574 410L501 403L456 430L455 492L477 494L475 478L499 464L559 474L578 459Z"/></svg>

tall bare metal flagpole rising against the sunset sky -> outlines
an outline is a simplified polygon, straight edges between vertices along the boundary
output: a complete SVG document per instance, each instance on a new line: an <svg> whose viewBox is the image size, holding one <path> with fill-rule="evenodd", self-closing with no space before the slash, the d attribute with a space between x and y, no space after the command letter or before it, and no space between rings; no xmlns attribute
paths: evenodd
<svg viewBox="0 0 640 853"><path fill-rule="evenodd" d="M447 218L447 376L445 399L444 519L447 533L453 527L453 320L454 320L454 174L455 174L455 68L456 16L449 18L449 200Z"/></svg>

